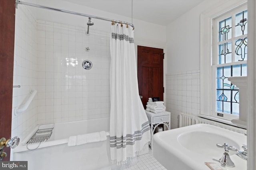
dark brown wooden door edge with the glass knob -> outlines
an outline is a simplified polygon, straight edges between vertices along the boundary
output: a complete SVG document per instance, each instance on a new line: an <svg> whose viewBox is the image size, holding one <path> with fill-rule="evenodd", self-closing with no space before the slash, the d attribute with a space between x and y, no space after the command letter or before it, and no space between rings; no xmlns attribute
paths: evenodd
<svg viewBox="0 0 256 170"><path fill-rule="evenodd" d="M0 138L11 137L15 0L0 3ZM10 160L10 148L3 160Z"/></svg>

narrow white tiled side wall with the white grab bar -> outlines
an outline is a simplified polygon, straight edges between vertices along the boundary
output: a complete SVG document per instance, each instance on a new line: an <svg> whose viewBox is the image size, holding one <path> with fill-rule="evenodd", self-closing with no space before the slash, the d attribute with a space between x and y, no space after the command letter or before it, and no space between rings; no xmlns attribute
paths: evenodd
<svg viewBox="0 0 256 170"><path fill-rule="evenodd" d="M37 85L36 21L26 6L19 6L15 15L14 77L12 98L12 137L25 137L36 125L36 97L26 111L14 115L30 95L30 88Z"/></svg>

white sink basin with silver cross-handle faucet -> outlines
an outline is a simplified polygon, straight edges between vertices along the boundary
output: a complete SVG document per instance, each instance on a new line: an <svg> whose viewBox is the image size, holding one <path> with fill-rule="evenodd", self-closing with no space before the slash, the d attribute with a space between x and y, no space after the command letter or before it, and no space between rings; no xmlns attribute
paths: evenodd
<svg viewBox="0 0 256 170"><path fill-rule="evenodd" d="M223 170L246 170L247 161L230 151L235 167L218 162L224 149L216 144L228 143L239 150L247 145L246 137L227 129L208 124L196 124L156 133L153 137L153 155L168 170L210 170L204 162L214 162Z"/></svg>

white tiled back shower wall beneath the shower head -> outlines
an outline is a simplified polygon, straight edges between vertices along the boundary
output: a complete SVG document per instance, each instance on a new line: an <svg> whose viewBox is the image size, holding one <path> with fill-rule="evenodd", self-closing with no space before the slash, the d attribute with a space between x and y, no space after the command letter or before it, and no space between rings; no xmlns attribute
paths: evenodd
<svg viewBox="0 0 256 170"><path fill-rule="evenodd" d="M37 21L38 124L109 117L110 36L86 31ZM86 59L90 70L82 68Z"/></svg>

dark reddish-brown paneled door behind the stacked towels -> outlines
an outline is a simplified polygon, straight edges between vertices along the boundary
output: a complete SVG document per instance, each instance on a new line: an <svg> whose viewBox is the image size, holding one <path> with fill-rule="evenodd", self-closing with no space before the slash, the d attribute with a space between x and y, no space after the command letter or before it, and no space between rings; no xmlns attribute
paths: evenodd
<svg viewBox="0 0 256 170"><path fill-rule="evenodd" d="M148 98L164 100L164 50L138 46L138 84L144 108Z"/></svg>

